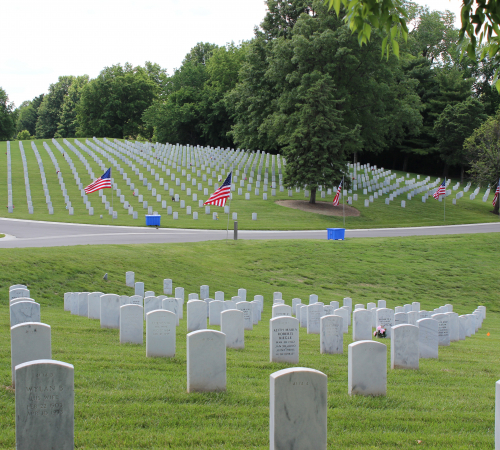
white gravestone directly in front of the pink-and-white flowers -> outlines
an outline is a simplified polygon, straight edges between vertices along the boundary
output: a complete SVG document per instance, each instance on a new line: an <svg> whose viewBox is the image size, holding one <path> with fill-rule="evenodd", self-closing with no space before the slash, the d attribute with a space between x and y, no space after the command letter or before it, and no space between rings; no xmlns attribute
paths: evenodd
<svg viewBox="0 0 500 450"><path fill-rule="evenodd" d="M376 341L349 344L347 383L349 395L386 395L387 347Z"/></svg>

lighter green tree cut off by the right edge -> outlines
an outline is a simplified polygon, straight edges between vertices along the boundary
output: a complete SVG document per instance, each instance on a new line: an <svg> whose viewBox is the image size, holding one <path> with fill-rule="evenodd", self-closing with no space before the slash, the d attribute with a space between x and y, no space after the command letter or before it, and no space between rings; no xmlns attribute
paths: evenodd
<svg viewBox="0 0 500 450"><path fill-rule="evenodd" d="M495 189L500 178L500 112L490 117L465 140L464 150L471 166L471 178ZM494 214L499 214L499 204L500 200L497 200Z"/></svg>

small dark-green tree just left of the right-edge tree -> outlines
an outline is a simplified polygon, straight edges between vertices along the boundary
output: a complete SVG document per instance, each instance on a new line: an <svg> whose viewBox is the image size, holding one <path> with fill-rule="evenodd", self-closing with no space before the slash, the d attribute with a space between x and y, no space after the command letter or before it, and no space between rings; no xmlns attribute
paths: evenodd
<svg viewBox="0 0 500 450"><path fill-rule="evenodd" d="M466 164L464 141L487 118L483 104L475 98L468 98L464 102L448 105L434 123L441 159L450 166L461 167L462 183Z"/></svg>

